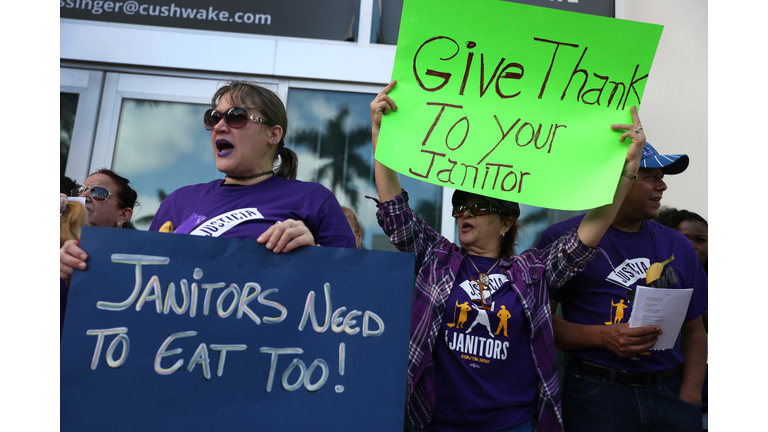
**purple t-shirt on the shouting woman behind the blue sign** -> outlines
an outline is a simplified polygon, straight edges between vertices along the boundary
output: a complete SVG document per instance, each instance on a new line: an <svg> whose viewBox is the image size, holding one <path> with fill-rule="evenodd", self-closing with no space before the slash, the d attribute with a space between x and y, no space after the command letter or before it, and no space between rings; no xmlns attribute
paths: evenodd
<svg viewBox="0 0 768 432"><path fill-rule="evenodd" d="M249 186L222 186L223 180L182 187L161 204L150 231L167 221L174 229L211 237L257 239L277 221L301 220L315 244L355 248L355 237L336 197L323 185L272 176ZM185 224L186 222L186 224Z"/></svg>

